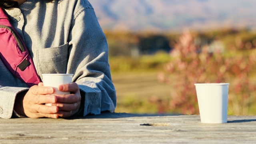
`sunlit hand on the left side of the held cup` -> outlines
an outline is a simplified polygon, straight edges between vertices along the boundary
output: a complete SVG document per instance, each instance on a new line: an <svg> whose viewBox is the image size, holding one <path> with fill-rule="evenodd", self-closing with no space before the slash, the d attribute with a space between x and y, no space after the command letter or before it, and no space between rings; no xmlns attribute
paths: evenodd
<svg viewBox="0 0 256 144"><path fill-rule="evenodd" d="M28 92L20 92L14 104L14 110L20 115L30 118L58 118L57 106L45 106L44 103L56 103L57 97L53 94L54 88L39 85L32 86ZM55 113L55 114L54 114Z"/></svg>

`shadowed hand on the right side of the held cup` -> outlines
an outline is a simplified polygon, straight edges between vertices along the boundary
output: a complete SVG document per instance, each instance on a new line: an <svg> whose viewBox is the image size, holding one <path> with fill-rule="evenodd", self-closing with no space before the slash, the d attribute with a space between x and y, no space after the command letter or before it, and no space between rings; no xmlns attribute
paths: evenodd
<svg viewBox="0 0 256 144"><path fill-rule="evenodd" d="M58 90L70 92L70 94L54 94L57 97L57 102L52 103L52 106L58 106L60 109L56 114L61 117L69 117L76 114L81 105L81 94L78 85L75 82L62 84L58 87Z"/></svg>

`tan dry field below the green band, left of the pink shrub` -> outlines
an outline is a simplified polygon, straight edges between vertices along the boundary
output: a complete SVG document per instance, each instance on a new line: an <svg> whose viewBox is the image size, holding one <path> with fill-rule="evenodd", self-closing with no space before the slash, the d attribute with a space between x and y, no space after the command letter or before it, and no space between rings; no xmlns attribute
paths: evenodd
<svg viewBox="0 0 256 144"><path fill-rule="evenodd" d="M116 112L156 112L156 108L148 106L150 101L170 96L170 85L158 82L157 76L158 72L112 74L117 95Z"/></svg>

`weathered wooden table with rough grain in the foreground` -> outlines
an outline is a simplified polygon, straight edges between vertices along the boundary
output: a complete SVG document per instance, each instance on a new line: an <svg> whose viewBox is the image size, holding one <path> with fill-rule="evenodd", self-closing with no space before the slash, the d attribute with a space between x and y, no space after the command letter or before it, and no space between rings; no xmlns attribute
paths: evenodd
<svg viewBox="0 0 256 144"><path fill-rule="evenodd" d="M0 118L0 144L34 143L256 143L256 116L228 116L226 124L202 124L200 116L104 113L74 119Z"/></svg>

